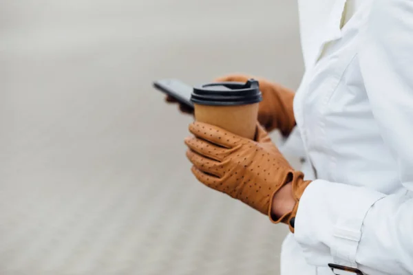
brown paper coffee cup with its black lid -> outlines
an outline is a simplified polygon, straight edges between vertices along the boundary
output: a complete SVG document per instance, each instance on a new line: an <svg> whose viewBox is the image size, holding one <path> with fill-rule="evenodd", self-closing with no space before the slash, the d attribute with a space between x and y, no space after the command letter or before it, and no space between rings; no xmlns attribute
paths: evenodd
<svg viewBox="0 0 413 275"><path fill-rule="evenodd" d="M258 104L262 100L257 80L246 83L209 83L193 88L195 120L247 137L255 137Z"/></svg>

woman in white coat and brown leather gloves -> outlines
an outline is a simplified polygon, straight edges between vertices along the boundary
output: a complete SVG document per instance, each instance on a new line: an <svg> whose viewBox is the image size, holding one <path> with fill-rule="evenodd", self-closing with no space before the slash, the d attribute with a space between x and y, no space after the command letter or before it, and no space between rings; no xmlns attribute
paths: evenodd
<svg viewBox="0 0 413 275"><path fill-rule="evenodd" d="M301 0L299 18L303 80L295 96L261 80L259 120L297 129L311 169L261 126L248 141L195 122L192 171L289 226L283 275L413 274L413 1Z"/></svg>

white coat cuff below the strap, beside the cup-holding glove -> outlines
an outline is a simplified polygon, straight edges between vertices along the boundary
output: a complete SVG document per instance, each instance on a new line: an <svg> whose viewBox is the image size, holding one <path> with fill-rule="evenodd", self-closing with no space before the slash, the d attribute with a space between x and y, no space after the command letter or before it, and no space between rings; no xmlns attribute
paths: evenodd
<svg viewBox="0 0 413 275"><path fill-rule="evenodd" d="M317 179L299 201L295 239L311 265L335 263L357 268L361 226L381 192Z"/></svg>

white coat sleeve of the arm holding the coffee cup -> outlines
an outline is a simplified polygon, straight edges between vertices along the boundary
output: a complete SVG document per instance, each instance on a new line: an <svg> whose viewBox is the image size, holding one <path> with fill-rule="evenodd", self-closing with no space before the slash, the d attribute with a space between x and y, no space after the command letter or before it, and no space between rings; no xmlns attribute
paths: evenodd
<svg viewBox="0 0 413 275"><path fill-rule="evenodd" d="M385 195L317 179L301 197L295 238L313 265L413 274L413 1L374 1L365 31L361 74L403 188Z"/></svg>

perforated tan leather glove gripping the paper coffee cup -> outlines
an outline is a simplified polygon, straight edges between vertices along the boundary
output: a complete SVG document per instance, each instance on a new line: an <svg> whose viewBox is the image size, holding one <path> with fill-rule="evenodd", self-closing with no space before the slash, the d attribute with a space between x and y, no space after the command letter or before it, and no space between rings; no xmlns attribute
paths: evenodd
<svg viewBox="0 0 413 275"><path fill-rule="evenodd" d="M255 141L201 122L190 124L189 131L195 136L185 139L187 157L199 181L268 214L274 223L287 223L294 232L292 221L310 181L304 181L303 173L291 168L260 125ZM273 197L290 182L295 207L282 217L273 217Z"/></svg>

